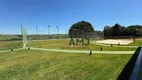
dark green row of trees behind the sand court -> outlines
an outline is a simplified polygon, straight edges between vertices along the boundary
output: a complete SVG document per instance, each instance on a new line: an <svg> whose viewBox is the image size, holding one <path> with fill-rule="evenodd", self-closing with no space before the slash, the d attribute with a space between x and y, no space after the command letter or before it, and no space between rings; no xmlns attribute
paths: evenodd
<svg viewBox="0 0 142 80"><path fill-rule="evenodd" d="M142 26L141 25L130 25L130 26L125 27L117 23L114 26L105 26L103 32L104 32L104 36L142 37Z"/></svg>

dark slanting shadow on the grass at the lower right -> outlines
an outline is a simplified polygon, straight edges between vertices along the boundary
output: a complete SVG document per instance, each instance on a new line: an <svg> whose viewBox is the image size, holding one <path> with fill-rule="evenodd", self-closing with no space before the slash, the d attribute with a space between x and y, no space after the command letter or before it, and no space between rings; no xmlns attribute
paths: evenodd
<svg viewBox="0 0 142 80"><path fill-rule="evenodd" d="M138 47L129 62L126 64L117 80L129 80L141 47Z"/></svg>

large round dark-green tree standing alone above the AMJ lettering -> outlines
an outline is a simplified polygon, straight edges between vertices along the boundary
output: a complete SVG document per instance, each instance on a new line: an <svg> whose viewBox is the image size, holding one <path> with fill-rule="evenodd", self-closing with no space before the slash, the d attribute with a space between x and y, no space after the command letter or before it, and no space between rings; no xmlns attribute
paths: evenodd
<svg viewBox="0 0 142 80"><path fill-rule="evenodd" d="M71 38L88 38L93 35L94 28L91 23L81 21L73 24L69 29L69 36Z"/></svg>

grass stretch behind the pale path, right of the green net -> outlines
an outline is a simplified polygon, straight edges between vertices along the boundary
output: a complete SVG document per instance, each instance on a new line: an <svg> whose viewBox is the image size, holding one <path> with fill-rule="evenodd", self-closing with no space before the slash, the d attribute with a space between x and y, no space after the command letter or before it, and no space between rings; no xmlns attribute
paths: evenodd
<svg viewBox="0 0 142 80"><path fill-rule="evenodd" d="M96 50L99 51L100 47L103 48L103 51L135 51L137 47L129 47L129 48L123 48L123 47L111 47L111 46L101 46L101 45L96 45L93 43L90 43L89 46L74 46L71 45L69 46L69 40L67 39L63 39L63 40L59 40L59 44L58 44L58 40L46 40L46 41L32 41L29 42L29 44L27 46L31 46L31 47L39 47L41 46L42 48L48 48L48 49L70 49L68 47L71 47L71 49L83 49L83 50Z"/></svg>

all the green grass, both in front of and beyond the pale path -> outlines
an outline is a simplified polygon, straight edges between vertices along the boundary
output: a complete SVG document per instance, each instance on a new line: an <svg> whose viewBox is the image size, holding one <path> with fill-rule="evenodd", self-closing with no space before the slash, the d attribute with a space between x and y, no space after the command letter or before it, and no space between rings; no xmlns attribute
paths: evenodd
<svg viewBox="0 0 142 80"><path fill-rule="evenodd" d="M142 40L127 46L139 46ZM69 39L33 40L27 47L45 49L135 51L137 47L111 47L91 43L68 46ZM116 45L115 45L116 46ZM0 50L22 47L22 41L0 41ZM89 52L88 52L89 54ZM0 53L0 80L116 80L133 54L93 54L19 50Z"/></svg>

